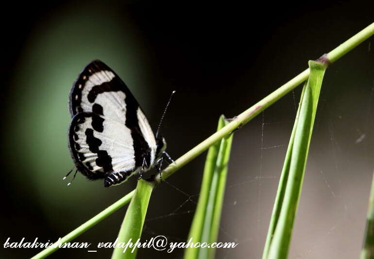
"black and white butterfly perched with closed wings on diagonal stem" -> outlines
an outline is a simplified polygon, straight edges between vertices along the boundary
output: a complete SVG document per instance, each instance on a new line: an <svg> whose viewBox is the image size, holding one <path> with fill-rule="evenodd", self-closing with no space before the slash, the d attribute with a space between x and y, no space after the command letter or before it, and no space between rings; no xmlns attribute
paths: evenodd
<svg viewBox="0 0 374 259"><path fill-rule="evenodd" d="M75 166L90 180L104 179L104 187L153 167L160 172L164 157L173 162L165 152L165 138L157 136L158 129L153 134L125 83L100 60L88 64L74 83L69 111L68 143Z"/></svg>

